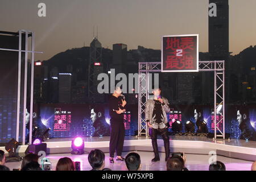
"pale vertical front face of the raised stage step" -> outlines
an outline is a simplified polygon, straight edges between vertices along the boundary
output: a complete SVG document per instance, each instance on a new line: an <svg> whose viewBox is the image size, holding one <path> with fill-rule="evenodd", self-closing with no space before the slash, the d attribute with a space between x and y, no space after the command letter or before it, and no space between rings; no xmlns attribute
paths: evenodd
<svg viewBox="0 0 256 182"><path fill-rule="evenodd" d="M164 152L163 140L158 139L159 152ZM27 146L19 146L20 156L24 156ZM109 141L85 142L85 151L98 148L104 152L109 152ZM209 155L210 151L216 151L217 155L229 158L256 160L256 148L232 146L228 141L203 142L196 140L170 140L171 152L185 152L187 154ZM5 151L5 147L0 147ZM47 154L65 154L71 152L71 141L47 142ZM152 152L151 139L125 140L123 151L148 151ZM6 151L5 151L6 152ZM7 154L7 152L6 152Z"/></svg>

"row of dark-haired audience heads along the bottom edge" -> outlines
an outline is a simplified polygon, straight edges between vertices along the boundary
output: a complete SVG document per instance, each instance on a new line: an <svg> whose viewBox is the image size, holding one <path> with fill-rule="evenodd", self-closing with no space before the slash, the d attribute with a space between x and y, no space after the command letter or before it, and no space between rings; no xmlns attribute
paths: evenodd
<svg viewBox="0 0 256 182"><path fill-rule="evenodd" d="M5 152L0 150L0 171L10 171L5 166ZM39 156L36 154L27 154L22 160L22 166L19 171L42 171L42 167L38 162ZM105 168L105 154L101 150L95 149L90 151L88 155L88 162L92 167L91 171L111 171L110 168ZM166 162L167 171L188 171L185 167L186 156L174 155L168 158ZM141 156L136 152L130 152L126 155L125 164L128 171L141 171ZM75 162L71 158L60 158L56 165L56 171L76 171ZM209 171L226 171L225 164L216 161L210 164ZM251 171L256 171L256 162L251 165Z"/></svg>

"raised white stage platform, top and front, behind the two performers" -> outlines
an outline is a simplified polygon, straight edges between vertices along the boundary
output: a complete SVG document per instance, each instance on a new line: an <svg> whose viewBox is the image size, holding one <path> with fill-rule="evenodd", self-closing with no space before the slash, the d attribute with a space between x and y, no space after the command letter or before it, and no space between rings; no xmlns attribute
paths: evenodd
<svg viewBox="0 0 256 182"><path fill-rule="evenodd" d="M65 154L71 152L73 138L51 138L46 141L47 154ZM98 148L106 153L109 152L110 137L83 137L85 151L89 152ZM5 147L0 147L4 150ZM20 156L24 156L27 146L19 146ZM163 140L158 137L159 152L164 152ZM209 155L210 151L217 155L228 158L256 161L256 142L239 139L216 139L197 136L170 136L171 152L185 152L185 154ZM4 150L5 151L5 150ZM123 151L146 151L152 152L150 137L125 137ZM6 151L5 151L6 152Z"/></svg>

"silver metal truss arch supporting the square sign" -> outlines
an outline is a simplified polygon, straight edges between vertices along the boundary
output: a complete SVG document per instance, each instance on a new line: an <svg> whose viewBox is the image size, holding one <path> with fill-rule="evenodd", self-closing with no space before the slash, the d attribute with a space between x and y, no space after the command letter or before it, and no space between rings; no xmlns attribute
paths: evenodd
<svg viewBox="0 0 256 182"><path fill-rule="evenodd" d="M199 61L200 72L214 72L214 138L225 139L225 61ZM148 76L150 73L161 72L161 62L139 63L139 103L138 103L138 136L148 137L145 121L145 107L148 100ZM217 109L222 107L220 121L216 122ZM222 128L219 123L222 122ZM218 135L217 135L218 133Z"/></svg>

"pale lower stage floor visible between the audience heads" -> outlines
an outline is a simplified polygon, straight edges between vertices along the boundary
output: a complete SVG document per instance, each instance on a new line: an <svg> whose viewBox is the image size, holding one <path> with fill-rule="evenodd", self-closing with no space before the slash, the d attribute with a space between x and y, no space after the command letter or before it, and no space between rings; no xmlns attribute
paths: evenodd
<svg viewBox="0 0 256 182"><path fill-rule="evenodd" d="M160 153L160 162L152 163L151 159L154 158L153 152L135 151L141 156L142 171L165 171L166 162L164 161L165 154ZM129 152L123 152L123 156L126 156ZM109 153L105 154L105 167L112 169L113 171L126 171L125 162L115 161L114 164L109 163ZM71 155L71 154L51 154L47 155L47 158L52 163L52 170L55 170L57 161L60 158L69 157L73 161L79 161L81 163L81 170L89 171L91 169L88 162L88 154L83 155ZM208 171L209 169L209 156L208 155L196 155L186 154L187 160L185 166L189 171ZM224 156L217 156L217 160L220 160L225 164L227 171L250 171L252 162L240 159L231 159ZM21 162L6 163L6 166L11 170L13 168L20 168Z"/></svg>

